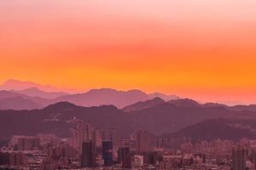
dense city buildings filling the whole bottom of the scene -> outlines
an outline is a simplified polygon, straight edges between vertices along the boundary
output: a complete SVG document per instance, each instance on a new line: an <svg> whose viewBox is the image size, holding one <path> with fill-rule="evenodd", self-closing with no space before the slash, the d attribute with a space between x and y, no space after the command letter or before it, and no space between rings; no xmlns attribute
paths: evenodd
<svg viewBox="0 0 256 170"><path fill-rule="evenodd" d="M256 169L256 140L214 139L191 143L184 139L178 146L170 147L165 138L147 131L137 131L123 139L116 129L98 129L90 122L75 124L68 139L47 133L14 135L1 148L0 169Z"/></svg>

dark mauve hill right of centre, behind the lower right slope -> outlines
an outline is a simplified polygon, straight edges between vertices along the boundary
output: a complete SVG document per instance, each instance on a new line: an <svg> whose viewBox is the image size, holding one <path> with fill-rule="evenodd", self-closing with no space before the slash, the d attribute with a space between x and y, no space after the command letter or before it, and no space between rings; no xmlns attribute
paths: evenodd
<svg viewBox="0 0 256 170"><path fill-rule="evenodd" d="M137 127L148 129L152 133L175 132L197 122L212 118L227 118L240 114L223 107L204 108L199 106L173 105L168 102L142 111L130 112Z"/></svg>

